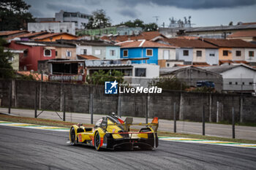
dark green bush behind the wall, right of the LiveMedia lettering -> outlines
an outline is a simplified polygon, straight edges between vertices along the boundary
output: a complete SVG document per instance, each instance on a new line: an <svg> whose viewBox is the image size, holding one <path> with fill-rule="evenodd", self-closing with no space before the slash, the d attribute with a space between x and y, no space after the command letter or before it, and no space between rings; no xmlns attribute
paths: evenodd
<svg viewBox="0 0 256 170"><path fill-rule="evenodd" d="M188 86L176 78L160 78L153 80L151 86L157 86L165 90L185 90Z"/></svg>

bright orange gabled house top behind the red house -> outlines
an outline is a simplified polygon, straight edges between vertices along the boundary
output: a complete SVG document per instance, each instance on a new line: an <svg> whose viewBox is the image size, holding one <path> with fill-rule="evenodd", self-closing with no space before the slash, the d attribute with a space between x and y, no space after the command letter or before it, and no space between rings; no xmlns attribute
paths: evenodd
<svg viewBox="0 0 256 170"><path fill-rule="evenodd" d="M74 36L68 33L49 33L41 36L36 36L33 39L39 42L56 42L57 39L77 39L78 36Z"/></svg>

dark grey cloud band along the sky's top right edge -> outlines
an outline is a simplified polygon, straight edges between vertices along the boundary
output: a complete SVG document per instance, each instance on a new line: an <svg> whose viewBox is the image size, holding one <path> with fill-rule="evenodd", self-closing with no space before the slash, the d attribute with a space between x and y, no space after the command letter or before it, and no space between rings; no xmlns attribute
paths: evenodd
<svg viewBox="0 0 256 170"><path fill-rule="evenodd" d="M256 4L256 0L121 0L119 3L129 7L134 7L137 4L155 4L184 9L213 9L250 6Z"/></svg>

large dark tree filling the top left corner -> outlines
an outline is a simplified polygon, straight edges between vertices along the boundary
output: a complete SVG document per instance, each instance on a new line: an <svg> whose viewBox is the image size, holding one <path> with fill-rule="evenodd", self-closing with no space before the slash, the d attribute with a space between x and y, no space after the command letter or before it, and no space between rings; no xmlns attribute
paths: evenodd
<svg viewBox="0 0 256 170"><path fill-rule="evenodd" d="M27 23L34 22L34 18L28 12L31 6L23 0L0 1L0 31L26 29Z"/></svg>

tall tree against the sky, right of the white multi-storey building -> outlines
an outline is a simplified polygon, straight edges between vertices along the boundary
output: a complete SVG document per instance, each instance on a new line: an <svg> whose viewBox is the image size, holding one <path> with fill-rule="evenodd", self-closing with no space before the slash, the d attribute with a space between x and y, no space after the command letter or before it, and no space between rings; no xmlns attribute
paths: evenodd
<svg viewBox="0 0 256 170"><path fill-rule="evenodd" d="M103 9L97 9L92 12L92 16L89 19L89 23L86 28L106 28L111 26L110 18L106 16L106 12Z"/></svg>

